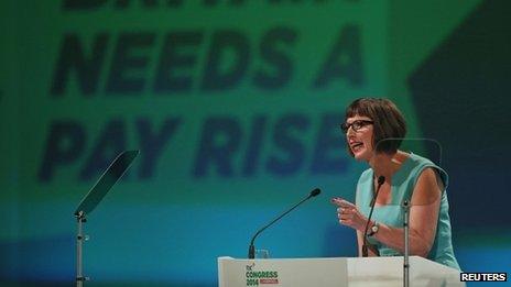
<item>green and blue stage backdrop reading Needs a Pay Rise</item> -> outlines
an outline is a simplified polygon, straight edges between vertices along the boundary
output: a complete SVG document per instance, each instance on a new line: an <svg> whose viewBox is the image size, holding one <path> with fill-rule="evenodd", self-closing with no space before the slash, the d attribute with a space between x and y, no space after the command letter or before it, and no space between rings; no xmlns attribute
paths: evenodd
<svg viewBox="0 0 511 287"><path fill-rule="evenodd" d="M413 2L413 3L411 3ZM69 286L80 199L129 172L85 223L94 286L216 286L216 258L356 256L334 196L367 168L344 110L398 103L442 144L455 252L510 272L507 1L2 1L0 282ZM417 146L416 153L432 151Z"/></svg>

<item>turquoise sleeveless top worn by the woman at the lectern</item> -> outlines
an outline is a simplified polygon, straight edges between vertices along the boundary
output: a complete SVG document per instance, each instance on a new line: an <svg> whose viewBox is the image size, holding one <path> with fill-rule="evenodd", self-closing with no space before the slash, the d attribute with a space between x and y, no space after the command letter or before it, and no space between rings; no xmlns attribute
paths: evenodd
<svg viewBox="0 0 511 287"><path fill-rule="evenodd" d="M387 206L376 206L374 211L372 212L372 219L389 227L403 228L404 213L401 208L401 203L405 199L409 201L411 200L418 176L427 167L433 167L438 173L444 181L444 187L447 188L447 173L430 159L410 153L410 157L404 161L401 168L392 176L391 203ZM372 180L373 170L369 168L362 173L357 184L356 205L360 212L366 217L369 216L370 202L374 190ZM445 192L444 189L442 192L436 235L427 258L439 264L460 269L458 262L454 256L448 210L449 203L447 201L447 192ZM373 238L369 236L369 243L378 247L380 256L402 256L402 254L398 251L385 246Z"/></svg>

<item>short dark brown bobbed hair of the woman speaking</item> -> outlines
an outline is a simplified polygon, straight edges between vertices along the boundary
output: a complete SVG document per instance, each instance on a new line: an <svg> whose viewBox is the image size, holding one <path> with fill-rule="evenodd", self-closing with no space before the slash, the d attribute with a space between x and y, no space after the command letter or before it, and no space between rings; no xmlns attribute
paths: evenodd
<svg viewBox="0 0 511 287"><path fill-rule="evenodd" d="M357 114L373 121L372 144L377 153L393 154L398 151L406 135L406 122L392 101L377 98L357 99L346 109L345 122ZM391 140L384 141L385 139ZM354 155L349 146L348 152Z"/></svg>

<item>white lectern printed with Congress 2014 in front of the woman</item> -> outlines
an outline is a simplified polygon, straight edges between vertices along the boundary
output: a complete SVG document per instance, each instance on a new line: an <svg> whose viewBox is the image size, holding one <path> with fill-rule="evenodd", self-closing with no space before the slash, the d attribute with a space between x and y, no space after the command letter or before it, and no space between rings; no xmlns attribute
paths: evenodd
<svg viewBox="0 0 511 287"><path fill-rule="evenodd" d="M459 271L410 256L411 286L465 286ZM403 257L236 260L218 257L218 286L385 287L403 285Z"/></svg>

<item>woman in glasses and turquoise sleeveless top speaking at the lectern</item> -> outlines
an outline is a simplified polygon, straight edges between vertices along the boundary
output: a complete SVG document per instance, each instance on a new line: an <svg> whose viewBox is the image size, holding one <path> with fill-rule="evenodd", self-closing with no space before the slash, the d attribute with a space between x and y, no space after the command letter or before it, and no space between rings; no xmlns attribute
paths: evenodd
<svg viewBox="0 0 511 287"><path fill-rule="evenodd" d="M398 150L401 140L395 139L405 136L406 124L395 104L387 99L355 100L346 110L341 128L348 152L370 166L357 184L356 205L341 198L333 199L338 206L340 224L357 231L359 255L367 224L369 256L404 253L401 203L411 200L410 254L459 269L450 240L445 192L447 174L424 157ZM384 181L380 181L374 211L368 222L378 178Z"/></svg>

